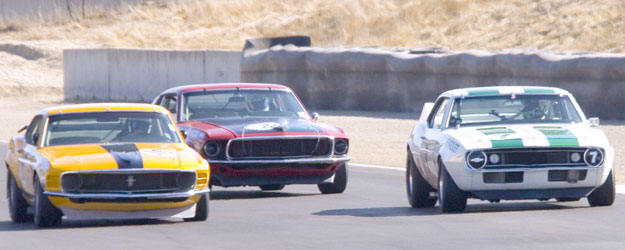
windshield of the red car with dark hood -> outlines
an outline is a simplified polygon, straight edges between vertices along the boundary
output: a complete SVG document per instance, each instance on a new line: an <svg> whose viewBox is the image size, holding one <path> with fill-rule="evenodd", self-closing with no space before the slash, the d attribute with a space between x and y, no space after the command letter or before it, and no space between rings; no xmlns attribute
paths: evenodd
<svg viewBox="0 0 625 250"><path fill-rule="evenodd" d="M183 95L181 120L240 117L308 118L291 92L280 90L197 91Z"/></svg>

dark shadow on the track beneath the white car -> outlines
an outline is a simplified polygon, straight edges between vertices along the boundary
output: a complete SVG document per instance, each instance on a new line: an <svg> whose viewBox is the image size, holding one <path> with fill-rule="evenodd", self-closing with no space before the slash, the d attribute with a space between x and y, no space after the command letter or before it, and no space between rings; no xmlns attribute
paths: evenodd
<svg viewBox="0 0 625 250"><path fill-rule="evenodd" d="M582 202L506 202L506 203L482 203L469 204L463 213L498 213L498 212L519 212L534 210L561 210L588 208ZM355 216L355 217L401 217L401 216L433 216L443 215L438 207L432 208L412 208L405 207L372 207L372 208L352 208L352 209L331 209L323 210L313 215L320 216Z"/></svg>

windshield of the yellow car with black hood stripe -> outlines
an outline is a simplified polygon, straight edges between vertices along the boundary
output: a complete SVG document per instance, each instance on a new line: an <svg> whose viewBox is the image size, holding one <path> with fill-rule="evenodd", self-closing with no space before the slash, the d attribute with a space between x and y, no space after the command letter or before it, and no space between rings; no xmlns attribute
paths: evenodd
<svg viewBox="0 0 625 250"><path fill-rule="evenodd" d="M166 114L97 112L50 116L44 145L180 141L175 125Z"/></svg>

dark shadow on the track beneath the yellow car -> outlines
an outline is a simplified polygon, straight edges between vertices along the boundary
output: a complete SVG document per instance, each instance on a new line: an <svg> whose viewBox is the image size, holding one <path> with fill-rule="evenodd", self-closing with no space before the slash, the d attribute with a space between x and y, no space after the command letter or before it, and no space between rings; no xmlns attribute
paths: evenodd
<svg viewBox="0 0 625 250"><path fill-rule="evenodd" d="M163 225L181 223L180 221L173 220L158 220L158 219L132 219L132 220L63 220L58 227L50 228L38 228L30 223L13 223L12 221L0 221L0 232L3 231L34 231L34 230L63 230L71 228L89 228L89 227L125 227L125 226L147 226L147 225ZM188 222L182 222L188 223Z"/></svg>

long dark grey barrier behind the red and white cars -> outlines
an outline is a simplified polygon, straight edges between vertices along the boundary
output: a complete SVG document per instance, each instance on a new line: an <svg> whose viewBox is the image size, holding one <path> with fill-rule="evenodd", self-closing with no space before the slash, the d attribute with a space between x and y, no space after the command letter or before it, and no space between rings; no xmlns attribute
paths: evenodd
<svg viewBox="0 0 625 250"><path fill-rule="evenodd" d="M241 80L283 83L311 109L419 112L453 88L567 89L587 116L625 119L625 55L505 50L410 54L274 46L244 52Z"/></svg>

